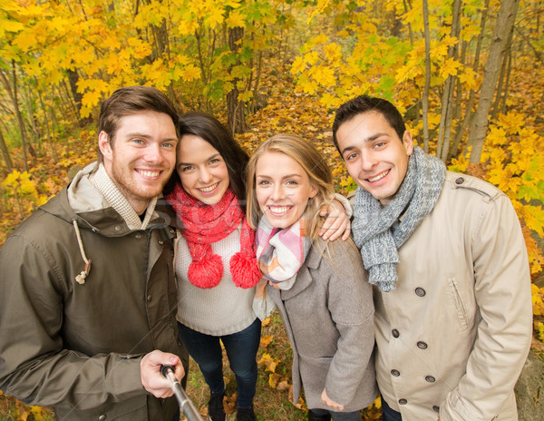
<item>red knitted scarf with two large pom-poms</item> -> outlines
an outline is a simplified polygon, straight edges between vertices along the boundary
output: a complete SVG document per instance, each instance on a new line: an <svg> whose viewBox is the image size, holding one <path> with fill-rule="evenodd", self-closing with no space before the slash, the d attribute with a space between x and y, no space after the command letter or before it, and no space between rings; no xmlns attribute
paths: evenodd
<svg viewBox="0 0 544 421"><path fill-rule="evenodd" d="M191 284L202 289L214 288L223 278L221 257L213 254L211 244L222 240L236 230L240 223L240 250L230 258L230 274L239 288L253 288L260 279L255 257L255 232L238 204L231 189L225 191L215 205L207 205L176 184L166 196L183 223L181 234L187 240L192 262L188 278Z"/></svg>

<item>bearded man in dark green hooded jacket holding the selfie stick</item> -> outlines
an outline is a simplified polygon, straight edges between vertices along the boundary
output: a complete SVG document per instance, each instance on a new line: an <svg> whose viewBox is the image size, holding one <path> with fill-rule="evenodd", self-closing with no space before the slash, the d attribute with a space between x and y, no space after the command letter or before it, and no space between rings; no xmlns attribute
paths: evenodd
<svg viewBox="0 0 544 421"><path fill-rule="evenodd" d="M144 86L102 103L99 161L0 250L0 389L63 420L165 420L161 365L185 375L176 331L175 229L161 191L178 114ZM165 399L169 397L168 399Z"/></svg>

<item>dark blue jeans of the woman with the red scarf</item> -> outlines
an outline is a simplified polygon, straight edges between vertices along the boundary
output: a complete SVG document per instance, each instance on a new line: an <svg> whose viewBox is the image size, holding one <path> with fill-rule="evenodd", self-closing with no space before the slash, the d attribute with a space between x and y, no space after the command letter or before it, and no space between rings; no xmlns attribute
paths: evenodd
<svg viewBox="0 0 544 421"><path fill-rule="evenodd" d="M257 350L260 342L261 321L255 321L237 333L214 337L197 332L178 323L180 338L189 350L189 354L197 362L200 371L208 383L211 393L225 391L223 380L223 342L227 350L230 368L236 376L238 389L238 408L250 408L257 387Z"/></svg>

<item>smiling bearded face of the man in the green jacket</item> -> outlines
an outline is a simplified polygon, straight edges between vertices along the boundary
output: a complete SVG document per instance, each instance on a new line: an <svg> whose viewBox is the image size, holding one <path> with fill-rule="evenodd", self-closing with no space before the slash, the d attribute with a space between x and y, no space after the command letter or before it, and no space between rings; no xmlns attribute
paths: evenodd
<svg viewBox="0 0 544 421"><path fill-rule="evenodd" d="M106 172L139 215L158 196L176 164L178 137L170 115L146 111L119 119L115 140L100 132Z"/></svg>

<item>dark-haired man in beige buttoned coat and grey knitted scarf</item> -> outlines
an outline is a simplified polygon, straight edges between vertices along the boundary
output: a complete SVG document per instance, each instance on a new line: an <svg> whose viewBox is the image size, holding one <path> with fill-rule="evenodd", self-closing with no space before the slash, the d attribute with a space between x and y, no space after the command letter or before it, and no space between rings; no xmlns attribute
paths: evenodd
<svg viewBox="0 0 544 421"><path fill-rule="evenodd" d="M374 284L384 420L517 420L532 311L510 200L414 147L383 99L343 104L333 137L359 186L354 240Z"/></svg>

